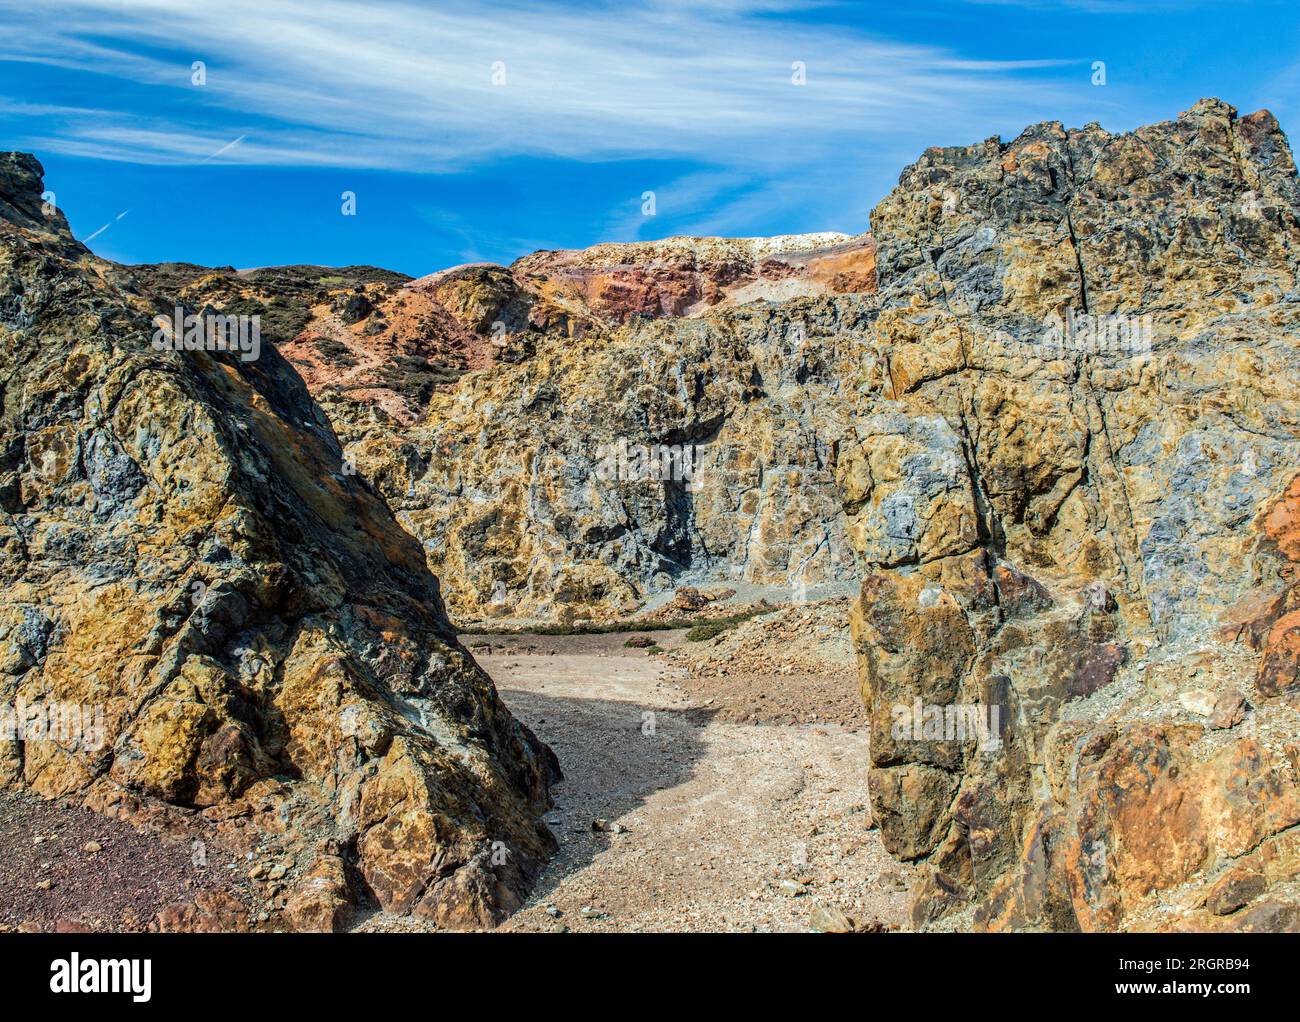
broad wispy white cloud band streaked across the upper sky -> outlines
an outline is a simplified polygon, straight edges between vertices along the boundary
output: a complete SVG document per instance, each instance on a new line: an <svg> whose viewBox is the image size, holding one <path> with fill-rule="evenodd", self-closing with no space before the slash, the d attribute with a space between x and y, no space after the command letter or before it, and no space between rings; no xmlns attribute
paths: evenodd
<svg viewBox="0 0 1300 1022"><path fill-rule="evenodd" d="M504 155L762 169L788 163L790 148L816 156L920 127L944 135L976 111L1011 118L1024 75L1066 62L968 60L796 23L785 7L49 0L6 16L0 59L164 90L161 109L118 100L49 113L40 142L51 150L202 163L246 134L222 160L403 170ZM207 65L205 85L191 85L194 60ZM794 61L806 65L803 86L792 85ZM1040 99L1050 104L1049 92Z"/></svg>

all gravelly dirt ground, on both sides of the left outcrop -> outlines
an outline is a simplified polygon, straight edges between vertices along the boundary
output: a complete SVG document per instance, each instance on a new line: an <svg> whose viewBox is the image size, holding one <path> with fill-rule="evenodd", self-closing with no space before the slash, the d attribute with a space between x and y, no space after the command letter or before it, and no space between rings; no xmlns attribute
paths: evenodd
<svg viewBox="0 0 1300 1022"><path fill-rule="evenodd" d="M841 637L792 640L818 635L812 612L698 644L650 632L656 653L625 633L467 636L566 775L547 815L559 852L503 930L907 928L911 871L872 826L853 671L809 659ZM247 867L217 845L199 863L185 843L0 793L0 931L153 928L164 906L222 891L256 924ZM372 909L350 928L429 927Z"/></svg>

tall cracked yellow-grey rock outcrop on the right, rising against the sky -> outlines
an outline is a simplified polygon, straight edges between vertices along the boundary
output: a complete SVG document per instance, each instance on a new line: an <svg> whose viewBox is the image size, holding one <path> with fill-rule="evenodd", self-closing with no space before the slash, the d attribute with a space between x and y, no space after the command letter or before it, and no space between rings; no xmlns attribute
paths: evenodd
<svg viewBox="0 0 1300 1022"><path fill-rule="evenodd" d="M1297 928L1277 122L1205 100L931 150L872 228L884 372L837 477L872 801L927 866L918 924ZM1098 329L1143 317L1149 339Z"/></svg>

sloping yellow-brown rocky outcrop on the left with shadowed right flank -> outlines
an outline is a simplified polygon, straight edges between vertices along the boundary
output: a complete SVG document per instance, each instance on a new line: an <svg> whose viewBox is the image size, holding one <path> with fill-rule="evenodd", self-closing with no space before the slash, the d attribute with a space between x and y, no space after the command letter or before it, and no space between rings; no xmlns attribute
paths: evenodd
<svg viewBox="0 0 1300 1022"><path fill-rule="evenodd" d="M554 846L554 758L276 347L159 350L170 296L40 174L0 157L0 783L295 852L302 926L499 921Z"/></svg>

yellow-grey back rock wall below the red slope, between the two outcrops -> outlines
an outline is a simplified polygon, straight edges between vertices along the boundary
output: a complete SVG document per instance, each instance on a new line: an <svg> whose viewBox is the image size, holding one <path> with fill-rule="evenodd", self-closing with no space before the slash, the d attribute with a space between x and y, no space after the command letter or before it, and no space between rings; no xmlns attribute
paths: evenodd
<svg viewBox="0 0 1300 1022"><path fill-rule="evenodd" d="M845 580L826 432L854 299L642 321L541 345L348 454L459 579L459 620L628 614L697 581ZM820 337L806 335L810 322Z"/></svg>

